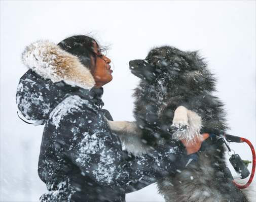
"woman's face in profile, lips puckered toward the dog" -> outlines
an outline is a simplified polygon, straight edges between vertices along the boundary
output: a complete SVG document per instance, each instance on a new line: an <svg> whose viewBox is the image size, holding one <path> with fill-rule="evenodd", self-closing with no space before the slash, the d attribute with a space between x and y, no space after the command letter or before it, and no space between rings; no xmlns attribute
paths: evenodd
<svg viewBox="0 0 256 202"><path fill-rule="evenodd" d="M94 60L91 60L93 63L92 65L95 67L93 72L93 78L95 80L95 87L100 88L106 83L112 81L113 70L111 70L111 66L109 65L111 63L111 60L106 56L102 55L96 42L93 43L93 48L94 48L94 52L97 55L96 64L94 64L95 63Z"/></svg>

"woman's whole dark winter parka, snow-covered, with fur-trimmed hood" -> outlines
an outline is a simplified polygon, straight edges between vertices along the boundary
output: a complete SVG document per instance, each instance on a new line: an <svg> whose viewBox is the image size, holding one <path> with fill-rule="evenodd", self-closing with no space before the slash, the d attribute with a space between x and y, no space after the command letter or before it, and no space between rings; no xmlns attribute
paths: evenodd
<svg viewBox="0 0 256 202"><path fill-rule="evenodd" d="M41 201L125 201L140 189L176 171L180 152L157 148L132 157L122 150L102 110L103 89L79 59L49 41L26 47L17 105L27 119L45 124L38 173L48 192ZM175 161L175 164L173 163Z"/></svg>

